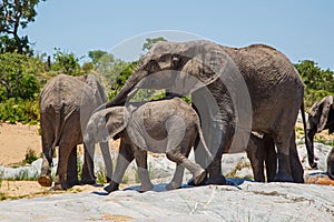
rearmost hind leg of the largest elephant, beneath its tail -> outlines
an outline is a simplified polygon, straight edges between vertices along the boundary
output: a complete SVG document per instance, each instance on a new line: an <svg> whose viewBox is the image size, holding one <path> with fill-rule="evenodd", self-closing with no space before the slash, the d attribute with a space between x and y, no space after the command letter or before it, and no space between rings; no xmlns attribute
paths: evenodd
<svg viewBox="0 0 334 222"><path fill-rule="evenodd" d="M298 151L295 142L295 131L289 140L289 159L291 159L291 171L294 182L304 183L304 170L299 161Z"/></svg>

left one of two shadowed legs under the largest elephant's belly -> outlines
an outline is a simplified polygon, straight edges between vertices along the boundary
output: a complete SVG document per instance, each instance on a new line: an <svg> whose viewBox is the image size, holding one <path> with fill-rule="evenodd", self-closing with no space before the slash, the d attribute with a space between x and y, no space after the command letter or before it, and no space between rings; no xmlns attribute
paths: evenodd
<svg viewBox="0 0 334 222"><path fill-rule="evenodd" d="M264 175L264 155L265 147L263 140L256 135L250 134L246 152L250 161L254 180L257 182L265 182Z"/></svg>

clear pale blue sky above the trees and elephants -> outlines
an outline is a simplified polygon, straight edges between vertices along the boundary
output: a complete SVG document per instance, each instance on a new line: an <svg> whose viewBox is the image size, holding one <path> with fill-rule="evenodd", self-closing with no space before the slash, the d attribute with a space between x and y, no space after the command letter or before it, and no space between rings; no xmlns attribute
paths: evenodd
<svg viewBox="0 0 334 222"><path fill-rule="evenodd" d="M311 59L334 70L330 0L47 0L37 10L36 21L21 33L39 53L52 54L57 47L81 57L100 49L130 59L140 53L146 37L168 36L174 41L206 38L230 47L266 43L293 62Z"/></svg>

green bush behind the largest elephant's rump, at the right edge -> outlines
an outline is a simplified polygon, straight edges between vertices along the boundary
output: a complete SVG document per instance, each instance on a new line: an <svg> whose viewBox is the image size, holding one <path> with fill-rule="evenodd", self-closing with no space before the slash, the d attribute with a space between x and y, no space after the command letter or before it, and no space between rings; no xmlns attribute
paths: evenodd
<svg viewBox="0 0 334 222"><path fill-rule="evenodd" d="M307 108L324 97L334 94L334 73L322 70L314 61L303 60L295 64L305 84L305 105Z"/></svg>

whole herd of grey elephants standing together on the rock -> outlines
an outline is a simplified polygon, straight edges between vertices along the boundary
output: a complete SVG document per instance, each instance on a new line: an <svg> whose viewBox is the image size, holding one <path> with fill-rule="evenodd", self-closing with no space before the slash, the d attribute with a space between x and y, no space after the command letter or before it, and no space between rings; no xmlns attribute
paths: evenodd
<svg viewBox="0 0 334 222"><path fill-rule="evenodd" d="M166 98L132 102L139 89L165 89ZM191 105L179 99L191 95ZM302 113L308 162L314 162L314 134L334 131L333 97L315 103L306 123L304 84L292 62L265 46L229 48L209 41L158 42L141 58L119 93L107 102L92 74L60 74L40 93L43 160L38 182L50 186L52 155L59 147L55 189L92 184L95 144L107 168L107 192L118 190L135 159L140 191L153 189L147 151L166 153L176 163L167 190L181 186L184 169L189 184L226 184L224 153L247 152L255 181L266 179L303 183L304 171L296 143L295 123ZM120 138L116 169L108 138ZM84 143L81 181L77 172L77 145ZM188 159L194 148L195 161ZM334 179L334 149L327 159Z"/></svg>

